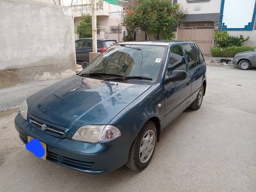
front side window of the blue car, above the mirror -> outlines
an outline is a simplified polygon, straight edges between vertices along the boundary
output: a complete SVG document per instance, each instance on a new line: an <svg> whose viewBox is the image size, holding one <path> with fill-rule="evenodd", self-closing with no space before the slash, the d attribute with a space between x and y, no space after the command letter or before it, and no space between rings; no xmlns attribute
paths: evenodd
<svg viewBox="0 0 256 192"><path fill-rule="evenodd" d="M176 45L171 48L169 63L167 66L167 75L170 76L173 70L183 70L187 72L185 57L180 45Z"/></svg>

